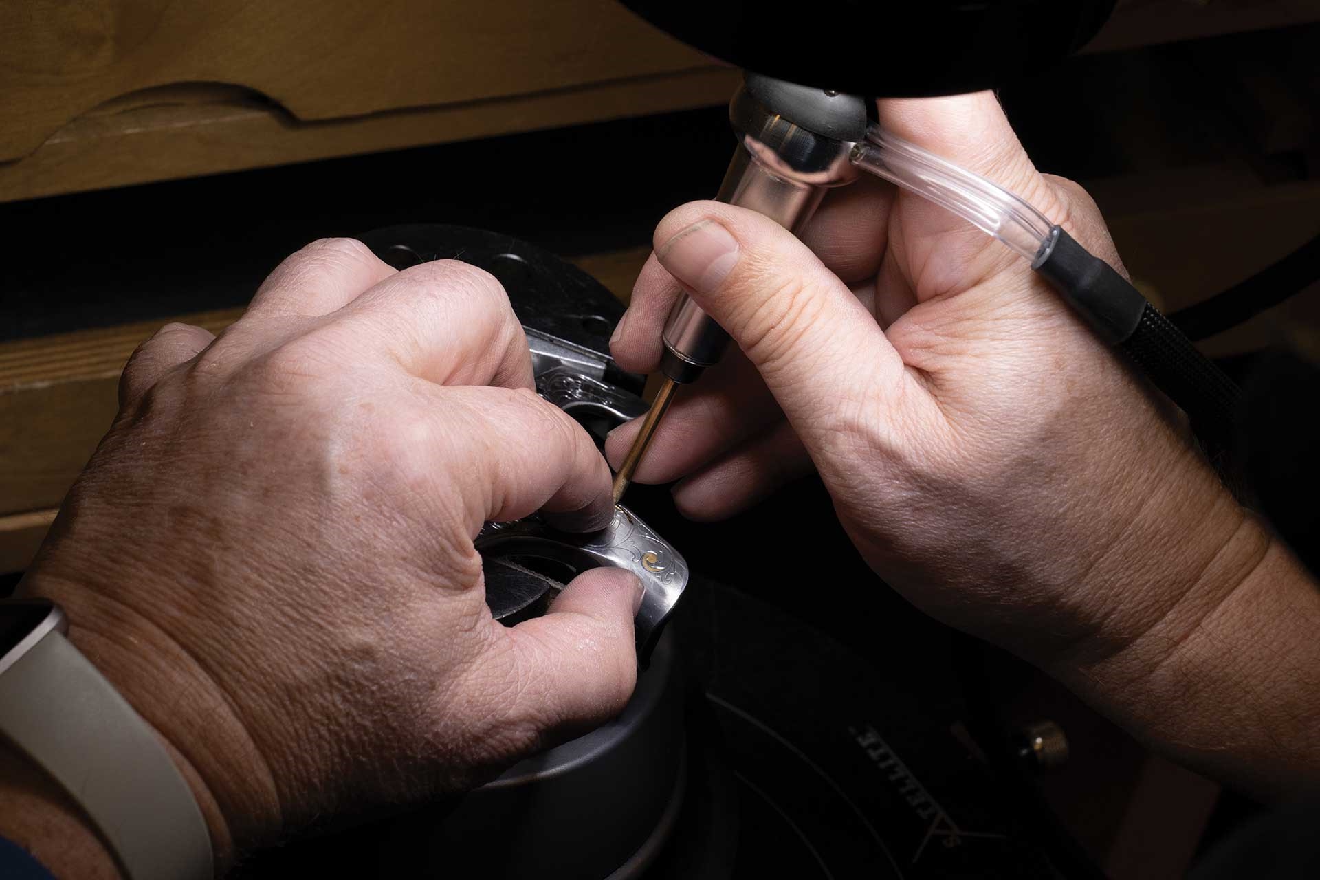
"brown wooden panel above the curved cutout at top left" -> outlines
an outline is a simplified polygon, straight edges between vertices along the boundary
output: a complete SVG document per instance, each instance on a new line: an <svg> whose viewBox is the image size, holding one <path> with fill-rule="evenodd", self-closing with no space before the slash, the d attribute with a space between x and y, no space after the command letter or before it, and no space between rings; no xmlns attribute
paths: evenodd
<svg viewBox="0 0 1320 880"><path fill-rule="evenodd" d="M317 121L710 65L612 0L29 0L0 4L0 57L3 160L160 86Z"/></svg>

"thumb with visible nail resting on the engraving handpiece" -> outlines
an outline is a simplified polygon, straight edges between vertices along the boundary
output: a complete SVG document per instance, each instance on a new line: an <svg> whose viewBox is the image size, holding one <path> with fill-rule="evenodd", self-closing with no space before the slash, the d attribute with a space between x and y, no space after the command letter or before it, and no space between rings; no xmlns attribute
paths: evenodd
<svg viewBox="0 0 1320 880"><path fill-rule="evenodd" d="M774 220L693 202L655 240L656 259L756 365L813 456L813 437L837 433L849 412L884 412L900 392L903 360L871 313Z"/></svg>

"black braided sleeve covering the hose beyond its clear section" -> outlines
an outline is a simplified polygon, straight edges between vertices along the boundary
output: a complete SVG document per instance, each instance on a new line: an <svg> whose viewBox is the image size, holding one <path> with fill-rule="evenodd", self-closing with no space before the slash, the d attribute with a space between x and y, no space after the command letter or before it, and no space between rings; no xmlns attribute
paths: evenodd
<svg viewBox="0 0 1320 880"><path fill-rule="evenodd" d="M1233 434L1238 387L1111 265L1055 227L1032 268L1192 420L1206 451Z"/></svg>

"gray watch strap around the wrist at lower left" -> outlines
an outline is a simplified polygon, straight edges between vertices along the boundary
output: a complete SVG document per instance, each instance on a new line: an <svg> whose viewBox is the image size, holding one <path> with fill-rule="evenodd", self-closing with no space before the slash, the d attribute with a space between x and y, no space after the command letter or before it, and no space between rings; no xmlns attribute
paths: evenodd
<svg viewBox="0 0 1320 880"><path fill-rule="evenodd" d="M0 676L0 731L86 810L132 880L210 880L211 834L147 722L58 632Z"/></svg>

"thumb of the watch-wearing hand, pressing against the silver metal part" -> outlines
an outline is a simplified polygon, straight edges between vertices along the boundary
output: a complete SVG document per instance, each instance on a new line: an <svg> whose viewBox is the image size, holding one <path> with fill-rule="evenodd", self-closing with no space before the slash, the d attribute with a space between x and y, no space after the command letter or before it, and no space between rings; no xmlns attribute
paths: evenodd
<svg viewBox="0 0 1320 880"><path fill-rule="evenodd" d="M632 617L642 582L622 569L583 571L546 615L513 627L515 711L558 739L614 718L632 695Z"/></svg>

